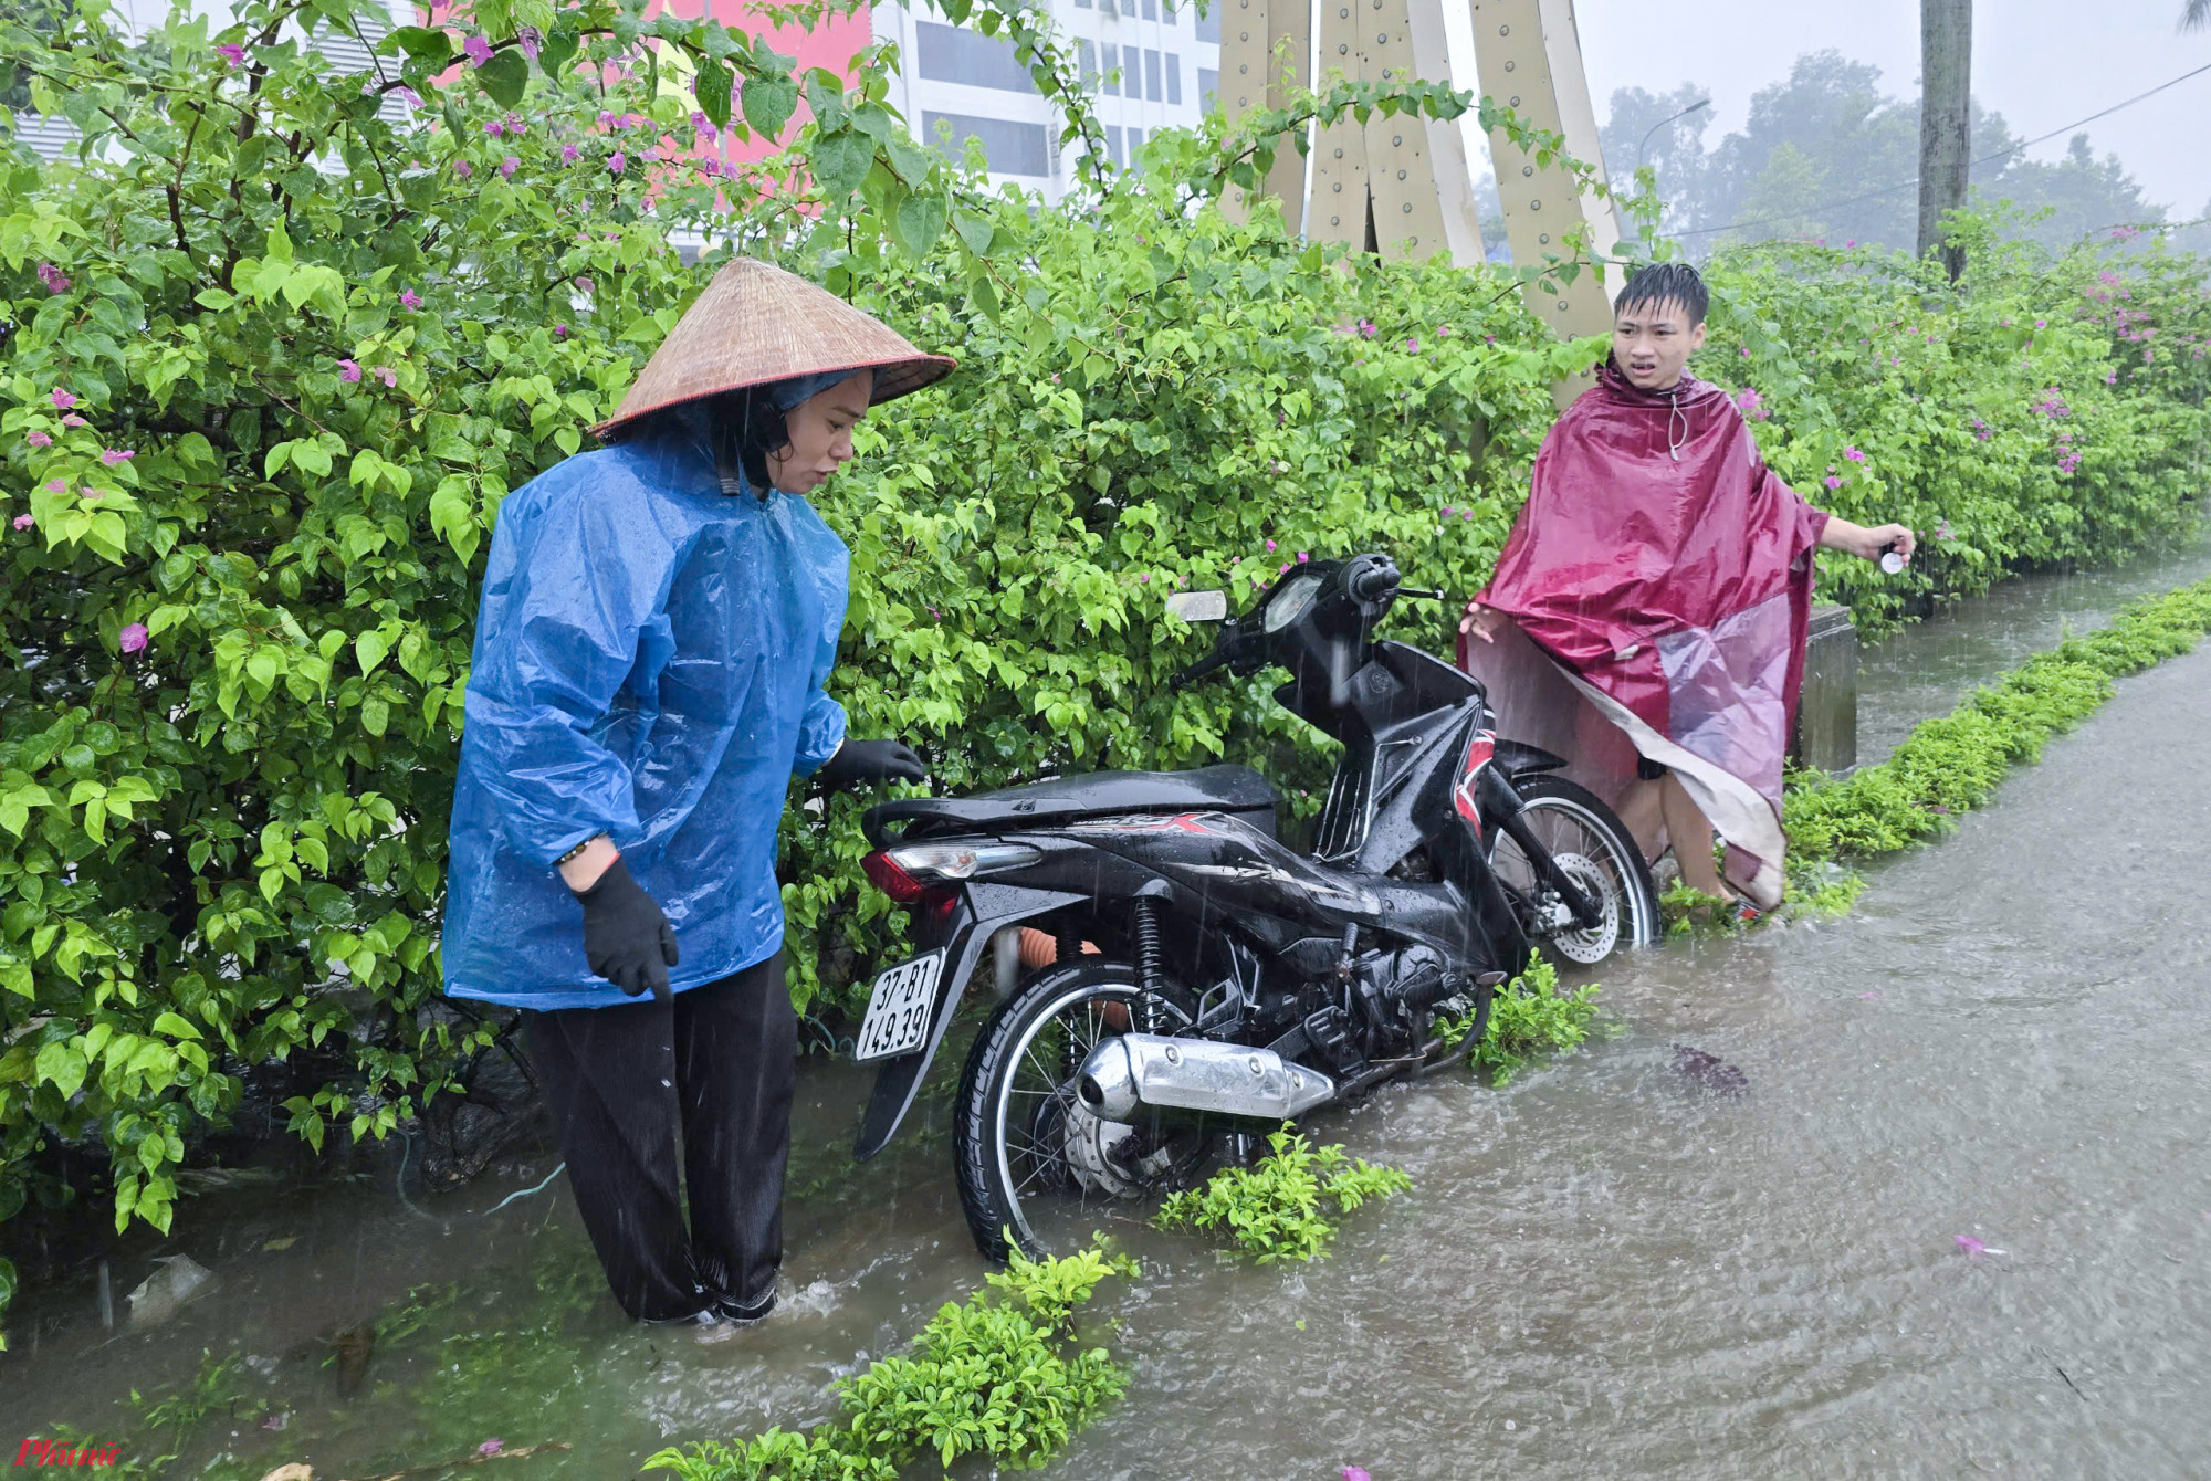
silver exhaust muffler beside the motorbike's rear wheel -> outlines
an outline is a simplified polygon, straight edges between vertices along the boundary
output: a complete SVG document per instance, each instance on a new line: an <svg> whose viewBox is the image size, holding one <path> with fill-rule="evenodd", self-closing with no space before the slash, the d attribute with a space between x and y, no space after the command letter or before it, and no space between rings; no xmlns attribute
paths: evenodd
<svg viewBox="0 0 2211 1481"><path fill-rule="evenodd" d="M1289 1121L1333 1101L1335 1081L1274 1050L1117 1034L1083 1059L1075 1092L1090 1114L1106 1121L1134 1121L1141 1110Z"/></svg>

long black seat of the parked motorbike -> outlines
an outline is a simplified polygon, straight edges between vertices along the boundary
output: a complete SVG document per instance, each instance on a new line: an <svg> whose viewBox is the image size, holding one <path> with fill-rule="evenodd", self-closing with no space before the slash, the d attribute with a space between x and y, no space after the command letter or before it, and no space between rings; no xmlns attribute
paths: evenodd
<svg viewBox="0 0 2211 1481"><path fill-rule="evenodd" d="M1234 813L1274 836L1274 782L1251 767L1220 765L1196 771L1083 771L1026 787L1002 787L964 798L902 798L867 809L867 838L878 849L893 824L900 838L942 833L1010 833L1046 829L1075 818L1114 813Z"/></svg>

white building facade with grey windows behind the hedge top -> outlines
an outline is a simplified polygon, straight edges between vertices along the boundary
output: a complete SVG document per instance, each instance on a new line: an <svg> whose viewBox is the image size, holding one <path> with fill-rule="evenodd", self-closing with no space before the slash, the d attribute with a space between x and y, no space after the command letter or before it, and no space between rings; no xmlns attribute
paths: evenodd
<svg viewBox="0 0 2211 1481"><path fill-rule="evenodd" d="M1081 57L1106 153L1128 164L1156 128L1194 128L1220 75L1220 9L1203 20L1192 0L1041 0ZM1075 150L1059 146L1063 119L1037 93L1013 42L946 24L926 4L876 4L878 42L898 42L891 104L926 144L951 155L979 139L991 179L1041 190L1057 201L1075 183Z"/></svg>

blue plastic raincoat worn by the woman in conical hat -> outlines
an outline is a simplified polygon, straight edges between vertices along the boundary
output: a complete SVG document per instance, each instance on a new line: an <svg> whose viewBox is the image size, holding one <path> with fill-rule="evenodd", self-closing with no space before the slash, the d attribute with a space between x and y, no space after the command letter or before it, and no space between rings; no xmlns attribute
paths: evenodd
<svg viewBox="0 0 2211 1481"><path fill-rule="evenodd" d="M805 500L723 493L696 409L500 506L453 789L447 992L652 1001L584 964L584 908L553 860L595 833L668 913L677 992L776 953L785 794L845 738L822 681L849 564Z"/></svg>

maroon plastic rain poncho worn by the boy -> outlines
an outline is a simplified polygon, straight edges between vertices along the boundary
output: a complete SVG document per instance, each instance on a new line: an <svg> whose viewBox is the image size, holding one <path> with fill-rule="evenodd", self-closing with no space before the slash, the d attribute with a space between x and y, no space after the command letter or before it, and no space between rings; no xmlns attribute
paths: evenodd
<svg viewBox="0 0 2211 1481"><path fill-rule="evenodd" d="M1563 747L1601 796L1618 796L1634 754L1672 767L1727 840L1727 875L1778 904L1782 756L1822 528L1725 391L1691 376L1641 391L1607 360L1543 440L1475 597L1534 648L1468 634L1459 665L1490 685L1510 734ZM1530 672L1550 670L1539 654L1610 725L1559 714L1574 705L1557 674Z"/></svg>

